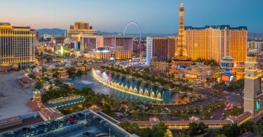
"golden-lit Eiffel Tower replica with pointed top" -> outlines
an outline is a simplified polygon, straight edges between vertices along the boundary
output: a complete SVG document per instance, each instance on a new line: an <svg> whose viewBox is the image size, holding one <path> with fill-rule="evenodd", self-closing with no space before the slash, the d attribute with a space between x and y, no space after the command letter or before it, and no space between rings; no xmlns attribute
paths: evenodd
<svg viewBox="0 0 263 137"><path fill-rule="evenodd" d="M177 49L175 51L175 57L172 58L173 65L170 73L176 73L179 68L187 68L191 65L191 59L187 56L187 50L184 42L184 6L181 3L179 8L180 12L180 24L177 39Z"/></svg>

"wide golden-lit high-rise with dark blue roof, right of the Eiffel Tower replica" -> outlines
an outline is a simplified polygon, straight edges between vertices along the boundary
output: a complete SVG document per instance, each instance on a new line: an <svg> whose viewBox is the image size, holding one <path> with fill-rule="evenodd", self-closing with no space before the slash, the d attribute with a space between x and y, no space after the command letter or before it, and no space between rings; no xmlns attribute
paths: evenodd
<svg viewBox="0 0 263 137"><path fill-rule="evenodd" d="M231 56L236 62L244 62L247 55L247 27L229 25L207 25L184 27L187 54L191 60L214 59Z"/></svg>

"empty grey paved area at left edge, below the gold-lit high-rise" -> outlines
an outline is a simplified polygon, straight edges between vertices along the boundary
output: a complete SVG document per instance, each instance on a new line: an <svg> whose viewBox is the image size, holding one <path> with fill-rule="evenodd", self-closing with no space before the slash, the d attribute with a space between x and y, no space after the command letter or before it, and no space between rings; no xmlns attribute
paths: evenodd
<svg viewBox="0 0 263 137"><path fill-rule="evenodd" d="M34 87L23 88L16 81L20 72L0 74L0 119L32 113L27 102L33 98Z"/></svg>

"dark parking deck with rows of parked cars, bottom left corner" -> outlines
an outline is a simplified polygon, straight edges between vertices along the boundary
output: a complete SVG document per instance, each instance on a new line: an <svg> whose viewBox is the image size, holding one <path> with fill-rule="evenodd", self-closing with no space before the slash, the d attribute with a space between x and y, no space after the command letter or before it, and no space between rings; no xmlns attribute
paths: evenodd
<svg viewBox="0 0 263 137"><path fill-rule="evenodd" d="M110 123L104 120L102 121L102 118L100 116L97 116L92 112L85 111L82 112L82 114L83 115L81 115L80 113L73 114L70 116L71 118L69 118L69 116L66 116L66 117L62 117L62 119L59 120L34 124L31 125L30 129L26 129L25 127L22 127L20 129L15 129L13 131L15 131L16 133L13 135L9 135L8 132L3 134L0 133L0 135L19 136L19 137L27 136L27 135L31 136L33 131L34 133L36 133L36 131L39 131L39 134L38 135L35 134L34 136L37 137L86 136L83 135L83 132L88 132L89 136L96 136L100 133L102 133L102 135L109 136L109 131L110 131L110 136L118 136L118 137L128 136L128 134L124 133L123 131L120 131L116 127L112 126ZM97 119L93 117L97 117ZM70 119L70 121L68 119ZM30 126L27 126L27 128L29 127ZM47 129L47 131L45 133L41 133L44 132L45 129Z"/></svg>

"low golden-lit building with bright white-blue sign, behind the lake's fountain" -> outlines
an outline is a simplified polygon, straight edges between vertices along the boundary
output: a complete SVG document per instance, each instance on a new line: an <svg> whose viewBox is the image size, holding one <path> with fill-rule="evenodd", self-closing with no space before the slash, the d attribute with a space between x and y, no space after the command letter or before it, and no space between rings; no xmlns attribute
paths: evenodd
<svg viewBox="0 0 263 137"><path fill-rule="evenodd" d="M95 56L100 60L126 60L130 57L131 51L124 51L123 46L100 47L95 50Z"/></svg>

